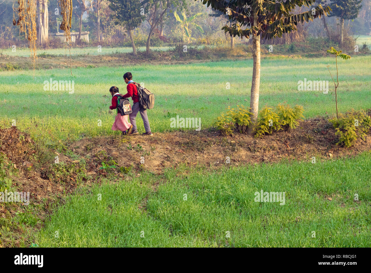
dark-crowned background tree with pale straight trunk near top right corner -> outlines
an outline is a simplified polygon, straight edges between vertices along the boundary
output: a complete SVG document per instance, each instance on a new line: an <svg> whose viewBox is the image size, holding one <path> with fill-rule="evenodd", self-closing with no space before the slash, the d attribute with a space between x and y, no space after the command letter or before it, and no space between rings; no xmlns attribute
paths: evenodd
<svg viewBox="0 0 371 273"><path fill-rule="evenodd" d="M330 16L336 16L340 19L340 45L344 41L344 19L352 20L357 18L361 9L362 0L330 0L332 9Z"/></svg>

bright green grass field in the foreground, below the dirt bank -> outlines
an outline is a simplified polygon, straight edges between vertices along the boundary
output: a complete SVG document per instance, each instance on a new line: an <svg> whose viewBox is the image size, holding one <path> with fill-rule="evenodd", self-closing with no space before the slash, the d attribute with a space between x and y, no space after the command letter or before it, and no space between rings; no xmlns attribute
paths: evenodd
<svg viewBox="0 0 371 273"><path fill-rule="evenodd" d="M147 173L79 192L46 221L35 243L40 247L370 247L369 152L315 164L191 172L176 176L169 170L160 177ZM151 188L155 182L160 182L156 192ZM261 190L285 192L285 204L255 202L255 192ZM355 194L359 202L353 200ZM145 198L146 210L139 209Z"/></svg>

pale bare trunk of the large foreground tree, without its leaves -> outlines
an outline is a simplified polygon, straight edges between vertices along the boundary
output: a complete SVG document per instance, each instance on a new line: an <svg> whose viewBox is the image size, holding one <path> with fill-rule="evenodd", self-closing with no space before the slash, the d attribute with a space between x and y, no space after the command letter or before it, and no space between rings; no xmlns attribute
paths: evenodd
<svg viewBox="0 0 371 273"><path fill-rule="evenodd" d="M254 14L254 26L257 26L257 15ZM252 136L254 134L257 114L259 111L259 88L260 88L260 35L253 33L253 78L251 83L251 95L250 95L250 111L251 111L251 127L248 130L248 134Z"/></svg>

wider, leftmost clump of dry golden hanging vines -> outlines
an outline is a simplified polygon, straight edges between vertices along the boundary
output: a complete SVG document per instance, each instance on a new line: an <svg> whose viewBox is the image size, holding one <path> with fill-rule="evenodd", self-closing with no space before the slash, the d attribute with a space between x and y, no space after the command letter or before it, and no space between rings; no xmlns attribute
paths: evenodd
<svg viewBox="0 0 371 273"><path fill-rule="evenodd" d="M17 21L14 12L18 13ZM13 4L13 25L19 26L19 34L24 32L31 50L33 68L35 69L37 39L35 0L27 0L27 2L26 0L18 0L18 9L14 8Z"/></svg>

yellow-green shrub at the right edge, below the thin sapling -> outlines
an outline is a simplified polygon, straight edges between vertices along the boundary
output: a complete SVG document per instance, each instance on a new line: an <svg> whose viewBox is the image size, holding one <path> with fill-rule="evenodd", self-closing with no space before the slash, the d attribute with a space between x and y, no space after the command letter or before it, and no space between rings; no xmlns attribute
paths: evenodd
<svg viewBox="0 0 371 273"><path fill-rule="evenodd" d="M335 135L339 136L339 142L336 144L344 144L345 147L354 145L358 137L365 140L366 133L371 127L371 118L364 110L352 109L345 115L339 114L339 119L333 118L329 121L336 130Z"/></svg>

